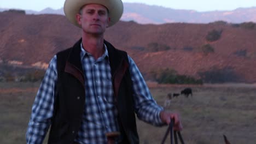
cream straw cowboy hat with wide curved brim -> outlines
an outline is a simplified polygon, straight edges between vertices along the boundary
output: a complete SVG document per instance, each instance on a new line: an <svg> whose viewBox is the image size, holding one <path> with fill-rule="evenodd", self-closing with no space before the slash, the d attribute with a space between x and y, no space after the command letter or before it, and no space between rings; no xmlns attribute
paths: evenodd
<svg viewBox="0 0 256 144"><path fill-rule="evenodd" d="M117 23L124 10L124 5L121 0L66 0L64 4L64 13L67 19L75 26L81 27L75 20L75 15L85 4L101 4L109 11L110 22L108 27Z"/></svg>

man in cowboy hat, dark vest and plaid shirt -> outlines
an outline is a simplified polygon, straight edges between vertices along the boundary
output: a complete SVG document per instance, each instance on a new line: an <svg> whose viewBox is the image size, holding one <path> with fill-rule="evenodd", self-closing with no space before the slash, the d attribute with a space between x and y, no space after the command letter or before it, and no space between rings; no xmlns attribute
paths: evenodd
<svg viewBox="0 0 256 144"><path fill-rule="evenodd" d="M106 134L118 131L116 143L139 143L135 113L153 125L177 113L157 105L135 62L104 40L107 27L123 14L121 0L66 0L67 19L82 28L82 39L57 53L39 87L28 123L27 143L107 143Z"/></svg>

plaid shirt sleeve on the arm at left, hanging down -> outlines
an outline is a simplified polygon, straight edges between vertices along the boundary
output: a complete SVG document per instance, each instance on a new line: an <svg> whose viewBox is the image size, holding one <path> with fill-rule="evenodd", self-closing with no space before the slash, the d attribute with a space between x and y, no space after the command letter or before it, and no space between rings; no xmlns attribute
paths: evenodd
<svg viewBox="0 0 256 144"><path fill-rule="evenodd" d="M32 106L28 123L27 143L43 143L53 116L54 94L57 81L56 55L51 59Z"/></svg>

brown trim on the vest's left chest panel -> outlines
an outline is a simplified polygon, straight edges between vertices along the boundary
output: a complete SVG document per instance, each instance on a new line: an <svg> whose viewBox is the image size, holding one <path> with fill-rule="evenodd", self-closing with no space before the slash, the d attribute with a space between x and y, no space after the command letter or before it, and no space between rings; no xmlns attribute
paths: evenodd
<svg viewBox="0 0 256 144"><path fill-rule="evenodd" d="M76 77L84 86L84 75L82 71L80 71L77 67L75 67L73 64L66 62L65 65L65 72L73 75Z"/></svg>

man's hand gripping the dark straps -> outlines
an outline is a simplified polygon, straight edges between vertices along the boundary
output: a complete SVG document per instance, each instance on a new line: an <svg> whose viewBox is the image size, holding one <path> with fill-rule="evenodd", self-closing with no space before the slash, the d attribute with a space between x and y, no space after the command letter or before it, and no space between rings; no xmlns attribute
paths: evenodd
<svg viewBox="0 0 256 144"><path fill-rule="evenodd" d="M173 130L181 131L182 130L182 124L181 124L181 119L179 118L178 113L171 113L167 111L161 111L160 112L160 118L162 122L166 124L170 124L171 119L174 119L174 125L173 125Z"/></svg>

